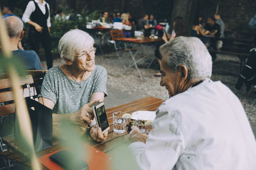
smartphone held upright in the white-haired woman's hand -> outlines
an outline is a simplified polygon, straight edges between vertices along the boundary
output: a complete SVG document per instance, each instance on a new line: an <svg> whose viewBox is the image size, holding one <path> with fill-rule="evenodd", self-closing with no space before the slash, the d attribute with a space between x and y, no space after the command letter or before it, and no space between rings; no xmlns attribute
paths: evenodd
<svg viewBox="0 0 256 170"><path fill-rule="evenodd" d="M98 127L101 128L102 133L109 130L108 117L103 102L95 103L92 106L93 115L95 117Z"/></svg>

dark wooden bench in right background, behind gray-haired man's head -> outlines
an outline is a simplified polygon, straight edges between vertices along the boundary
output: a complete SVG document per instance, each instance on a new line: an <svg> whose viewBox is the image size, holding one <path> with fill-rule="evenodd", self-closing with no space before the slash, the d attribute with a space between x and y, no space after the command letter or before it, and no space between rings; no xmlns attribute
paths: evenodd
<svg viewBox="0 0 256 170"><path fill-rule="evenodd" d="M240 72L246 62L246 59L250 56L249 50L253 47L253 41L250 39L238 39L238 38L211 38L215 41L223 41L223 46L220 50L211 50L210 53L221 53L236 56L240 60Z"/></svg>

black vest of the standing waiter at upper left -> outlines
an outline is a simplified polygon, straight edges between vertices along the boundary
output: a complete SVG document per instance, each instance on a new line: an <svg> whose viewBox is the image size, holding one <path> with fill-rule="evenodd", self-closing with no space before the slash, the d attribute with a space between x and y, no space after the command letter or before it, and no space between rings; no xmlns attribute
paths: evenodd
<svg viewBox="0 0 256 170"><path fill-rule="evenodd" d="M35 22L36 24L39 24L44 29L47 29L47 18L49 17L49 10L48 10L47 4L45 4L45 14L44 14L40 10L38 4L35 1L33 2L35 3L36 9L35 11L33 11L33 13L31 13L30 20ZM35 29L35 27L33 28Z"/></svg>

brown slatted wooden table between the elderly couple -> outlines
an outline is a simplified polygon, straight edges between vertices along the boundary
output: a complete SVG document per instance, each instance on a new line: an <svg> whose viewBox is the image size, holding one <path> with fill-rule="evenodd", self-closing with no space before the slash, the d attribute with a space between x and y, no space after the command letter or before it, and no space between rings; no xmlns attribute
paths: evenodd
<svg viewBox="0 0 256 170"><path fill-rule="evenodd" d="M102 143L97 143L92 140L88 140L85 143L88 143L89 145L97 148L102 152L105 152L105 153L111 152L111 150L116 148L116 145L115 145L116 142L120 142L120 141L124 143L126 142L125 139L128 134L127 131L125 131L124 134L115 134L113 132L112 115L115 111L124 111L126 113L133 113L134 111L139 111L139 110L156 111L157 108L159 108L159 106L162 103L163 103L162 99L158 99L156 97L145 97L143 99L139 99L136 101L132 101L130 103L125 103L120 106L107 109L106 112L108 115L108 121L110 125L108 139ZM21 162L23 164L30 166L30 163L28 162L28 157L29 157L28 153L19 150L19 147L14 142L13 136L4 138L4 143L6 143L6 145L8 145L11 149L6 152L2 152L1 155L4 155L10 159L17 160L18 162ZM47 153L54 152L56 150L60 150L61 146L58 145L58 143L59 142L54 141L52 143L52 148L38 152L37 153L38 157L45 155Z"/></svg>

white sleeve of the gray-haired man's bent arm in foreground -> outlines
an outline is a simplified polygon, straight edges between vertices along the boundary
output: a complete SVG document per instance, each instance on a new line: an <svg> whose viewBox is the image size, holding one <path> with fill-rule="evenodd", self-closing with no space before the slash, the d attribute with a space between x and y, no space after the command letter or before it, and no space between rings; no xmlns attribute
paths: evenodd
<svg viewBox="0 0 256 170"><path fill-rule="evenodd" d="M141 169L172 169L175 166L185 149L179 124L179 111L170 112L163 107L159 108L153 122L154 129L146 143L129 145Z"/></svg>

